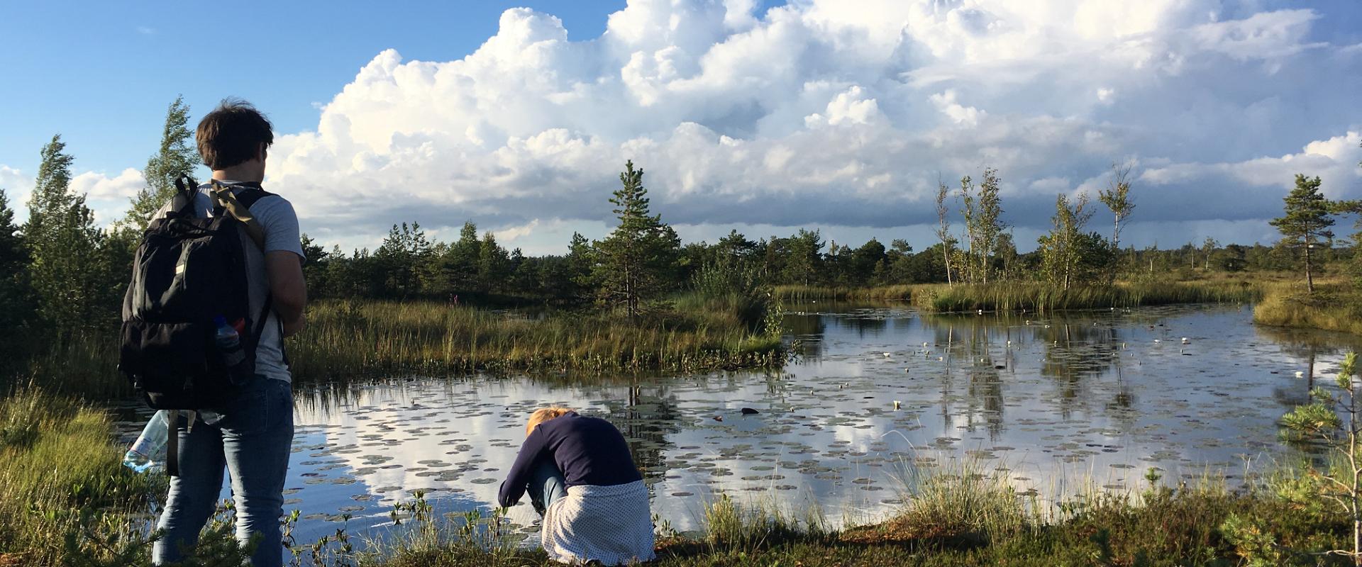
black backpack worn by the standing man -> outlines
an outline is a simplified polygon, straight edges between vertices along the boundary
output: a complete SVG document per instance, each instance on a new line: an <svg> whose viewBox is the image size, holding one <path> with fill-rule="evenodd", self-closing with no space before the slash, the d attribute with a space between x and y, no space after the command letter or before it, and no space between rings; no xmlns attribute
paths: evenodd
<svg viewBox="0 0 1362 567"><path fill-rule="evenodd" d="M226 207L214 197L212 216L196 218L197 190L188 175L176 179L169 211L151 220L138 246L123 300L118 370L155 409L214 408L255 379L256 344L270 313L268 295L264 309L251 313L245 246L260 243L247 211L271 193L238 186L233 197L214 182ZM236 355L236 364L215 343L217 317L238 330L245 356Z"/></svg>

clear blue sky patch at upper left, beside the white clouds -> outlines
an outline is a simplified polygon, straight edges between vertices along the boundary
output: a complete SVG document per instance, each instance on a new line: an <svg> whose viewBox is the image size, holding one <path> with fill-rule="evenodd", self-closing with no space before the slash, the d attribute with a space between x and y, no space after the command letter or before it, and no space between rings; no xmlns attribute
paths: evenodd
<svg viewBox="0 0 1362 567"><path fill-rule="evenodd" d="M501 11L557 15L571 39L601 35L624 1L7 1L0 4L0 163L35 167L61 133L79 167L117 171L155 150L177 94L196 117L226 94L279 132L315 129L319 109L384 49L419 60L471 53ZM18 49L16 49L18 48ZM232 54L227 54L227 53Z"/></svg>

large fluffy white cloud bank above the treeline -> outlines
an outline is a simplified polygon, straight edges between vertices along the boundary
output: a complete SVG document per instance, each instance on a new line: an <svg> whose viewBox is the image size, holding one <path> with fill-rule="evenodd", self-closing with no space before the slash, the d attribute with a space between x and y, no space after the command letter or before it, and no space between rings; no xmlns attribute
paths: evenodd
<svg viewBox="0 0 1362 567"><path fill-rule="evenodd" d="M693 237L923 234L937 179L992 166L1024 241L1056 193L1122 162L1133 241L1271 238L1248 227L1297 171L1359 196L1362 46L1323 18L1284 0L632 0L568 41L515 8L459 60L379 53L315 131L279 136L268 182L323 242L473 219L546 252L603 230L625 159Z"/></svg>

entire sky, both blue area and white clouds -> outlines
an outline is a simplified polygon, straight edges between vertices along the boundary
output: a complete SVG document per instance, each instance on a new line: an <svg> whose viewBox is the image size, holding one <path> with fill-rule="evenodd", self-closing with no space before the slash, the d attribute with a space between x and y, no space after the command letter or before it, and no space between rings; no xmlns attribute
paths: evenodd
<svg viewBox="0 0 1362 567"><path fill-rule="evenodd" d="M1352 0L222 5L0 3L11 203L61 133L75 189L117 219L178 94L192 122L223 97L266 111L267 189L346 250L473 220L563 253L609 231L629 159L654 212L710 242L808 227L921 250L937 182L986 167L1022 250L1114 163L1136 246L1272 242L1297 173L1362 199Z"/></svg>

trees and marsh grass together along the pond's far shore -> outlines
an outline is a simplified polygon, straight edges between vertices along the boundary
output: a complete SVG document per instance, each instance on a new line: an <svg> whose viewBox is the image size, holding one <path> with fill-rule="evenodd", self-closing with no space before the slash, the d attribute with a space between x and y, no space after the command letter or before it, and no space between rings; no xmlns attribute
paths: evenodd
<svg viewBox="0 0 1362 567"><path fill-rule="evenodd" d="M84 196L71 188L75 158L60 136L41 150L26 223L15 222L15 204L0 188L0 341L18 354L0 362L0 377L48 374L86 394L118 392L95 386L116 381L104 363L112 360L140 227L173 193L174 175L197 163L188 117L176 99L143 171L146 188L108 228L95 224ZM1355 330L1357 318L1340 313L1362 306L1362 260L1335 241L1331 227L1362 205L1327 200L1320 182L1297 177L1283 216L1272 222L1283 235L1273 246L1207 238L1177 249L1121 247L1121 231L1137 211L1128 166L1113 167L1096 196L1114 219L1110 237L1090 228L1095 207L1087 193L1058 194L1050 231L1027 253L1004 222L1002 174L989 167L955 188L938 182L936 241L919 243L921 250L904 239L827 242L819 230L756 239L734 230L714 243L682 243L652 211L644 171L628 162L618 189L602 192L616 228L599 241L573 234L561 256L508 250L473 220L452 242L432 239L418 223L398 223L373 250L327 249L304 235L317 328L293 348L304 377L392 367L767 364L779 359L778 325L768 317L774 300L825 296L972 311L1244 302L1265 292L1260 322ZM1301 271L1305 290L1260 286L1265 273ZM391 309L391 302L403 306ZM533 322L482 313L528 305L549 309ZM469 310L479 313L462 313ZM372 352L346 347L347 334L362 337ZM75 373L42 368L71 354L95 354L87 359L99 364L78 364Z"/></svg>

